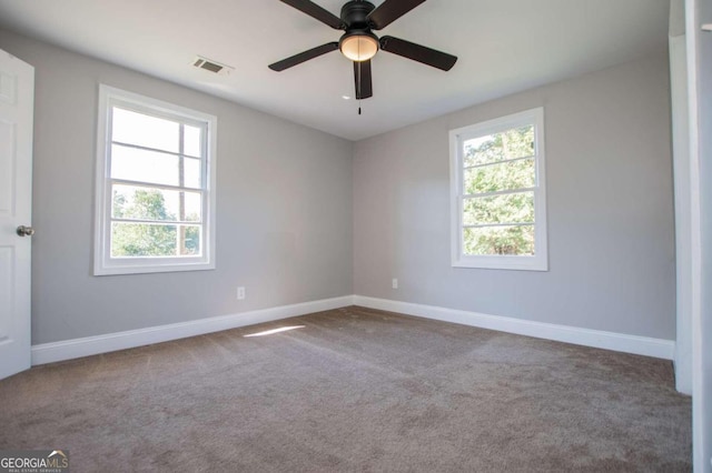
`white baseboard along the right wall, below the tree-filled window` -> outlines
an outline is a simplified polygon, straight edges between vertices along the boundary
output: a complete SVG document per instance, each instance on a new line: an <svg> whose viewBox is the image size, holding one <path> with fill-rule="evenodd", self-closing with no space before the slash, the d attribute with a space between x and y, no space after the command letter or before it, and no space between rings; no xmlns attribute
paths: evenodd
<svg viewBox="0 0 712 473"><path fill-rule="evenodd" d="M664 360L672 360L675 352L675 343L672 340L651 339L647 336L578 329L575 326L556 325L553 323L532 322L522 319L488 315L433 305L413 304L409 302L392 301L387 299L367 298L364 295L354 295L354 304L426 319L461 323L463 325L478 326L481 329L497 330L501 332L516 333L537 339L554 340L557 342L573 343L576 345L593 346L596 349L633 353Z"/></svg>

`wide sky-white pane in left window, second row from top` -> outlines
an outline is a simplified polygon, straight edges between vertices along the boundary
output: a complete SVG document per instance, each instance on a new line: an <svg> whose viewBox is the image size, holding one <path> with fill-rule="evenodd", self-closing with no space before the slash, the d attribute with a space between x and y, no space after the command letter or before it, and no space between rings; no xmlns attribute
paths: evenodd
<svg viewBox="0 0 712 473"><path fill-rule="evenodd" d="M172 154L113 144L111 178L154 184L179 185L180 159Z"/></svg>

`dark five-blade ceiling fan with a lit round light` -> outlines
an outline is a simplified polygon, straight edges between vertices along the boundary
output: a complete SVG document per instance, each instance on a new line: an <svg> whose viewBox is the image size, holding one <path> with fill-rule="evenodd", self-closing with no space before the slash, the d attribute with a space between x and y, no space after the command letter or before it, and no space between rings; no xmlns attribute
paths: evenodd
<svg viewBox="0 0 712 473"><path fill-rule="evenodd" d="M345 33L338 41L317 46L269 64L269 69L273 71L284 71L338 49L346 58L354 61L356 99L360 100L373 97L370 59L378 52L378 49L444 71L449 71L457 61L455 56L445 52L394 37L385 36L379 39L373 33L373 30L380 30L387 27L425 0L385 0L378 8L366 0L352 0L342 7L340 18L309 0L280 1L335 30L344 30Z"/></svg>

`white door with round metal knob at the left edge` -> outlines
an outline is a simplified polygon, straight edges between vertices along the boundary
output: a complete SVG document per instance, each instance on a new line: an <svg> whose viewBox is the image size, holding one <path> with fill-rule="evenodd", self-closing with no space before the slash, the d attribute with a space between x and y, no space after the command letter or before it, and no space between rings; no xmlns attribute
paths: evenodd
<svg viewBox="0 0 712 473"><path fill-rule="evenodd" d="M0 379L31 361L33 101L34 68L0 50Z"/></svg>

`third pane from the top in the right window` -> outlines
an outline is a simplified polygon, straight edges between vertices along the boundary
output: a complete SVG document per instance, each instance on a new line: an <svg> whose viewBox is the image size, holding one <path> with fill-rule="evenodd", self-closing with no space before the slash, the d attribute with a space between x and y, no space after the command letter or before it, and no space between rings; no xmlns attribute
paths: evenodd
<svg viewBox="0 0 712 473"><path fill-rule="evenodd" d="M463 200L463 224L534 223L534 192Z"/></svg>

